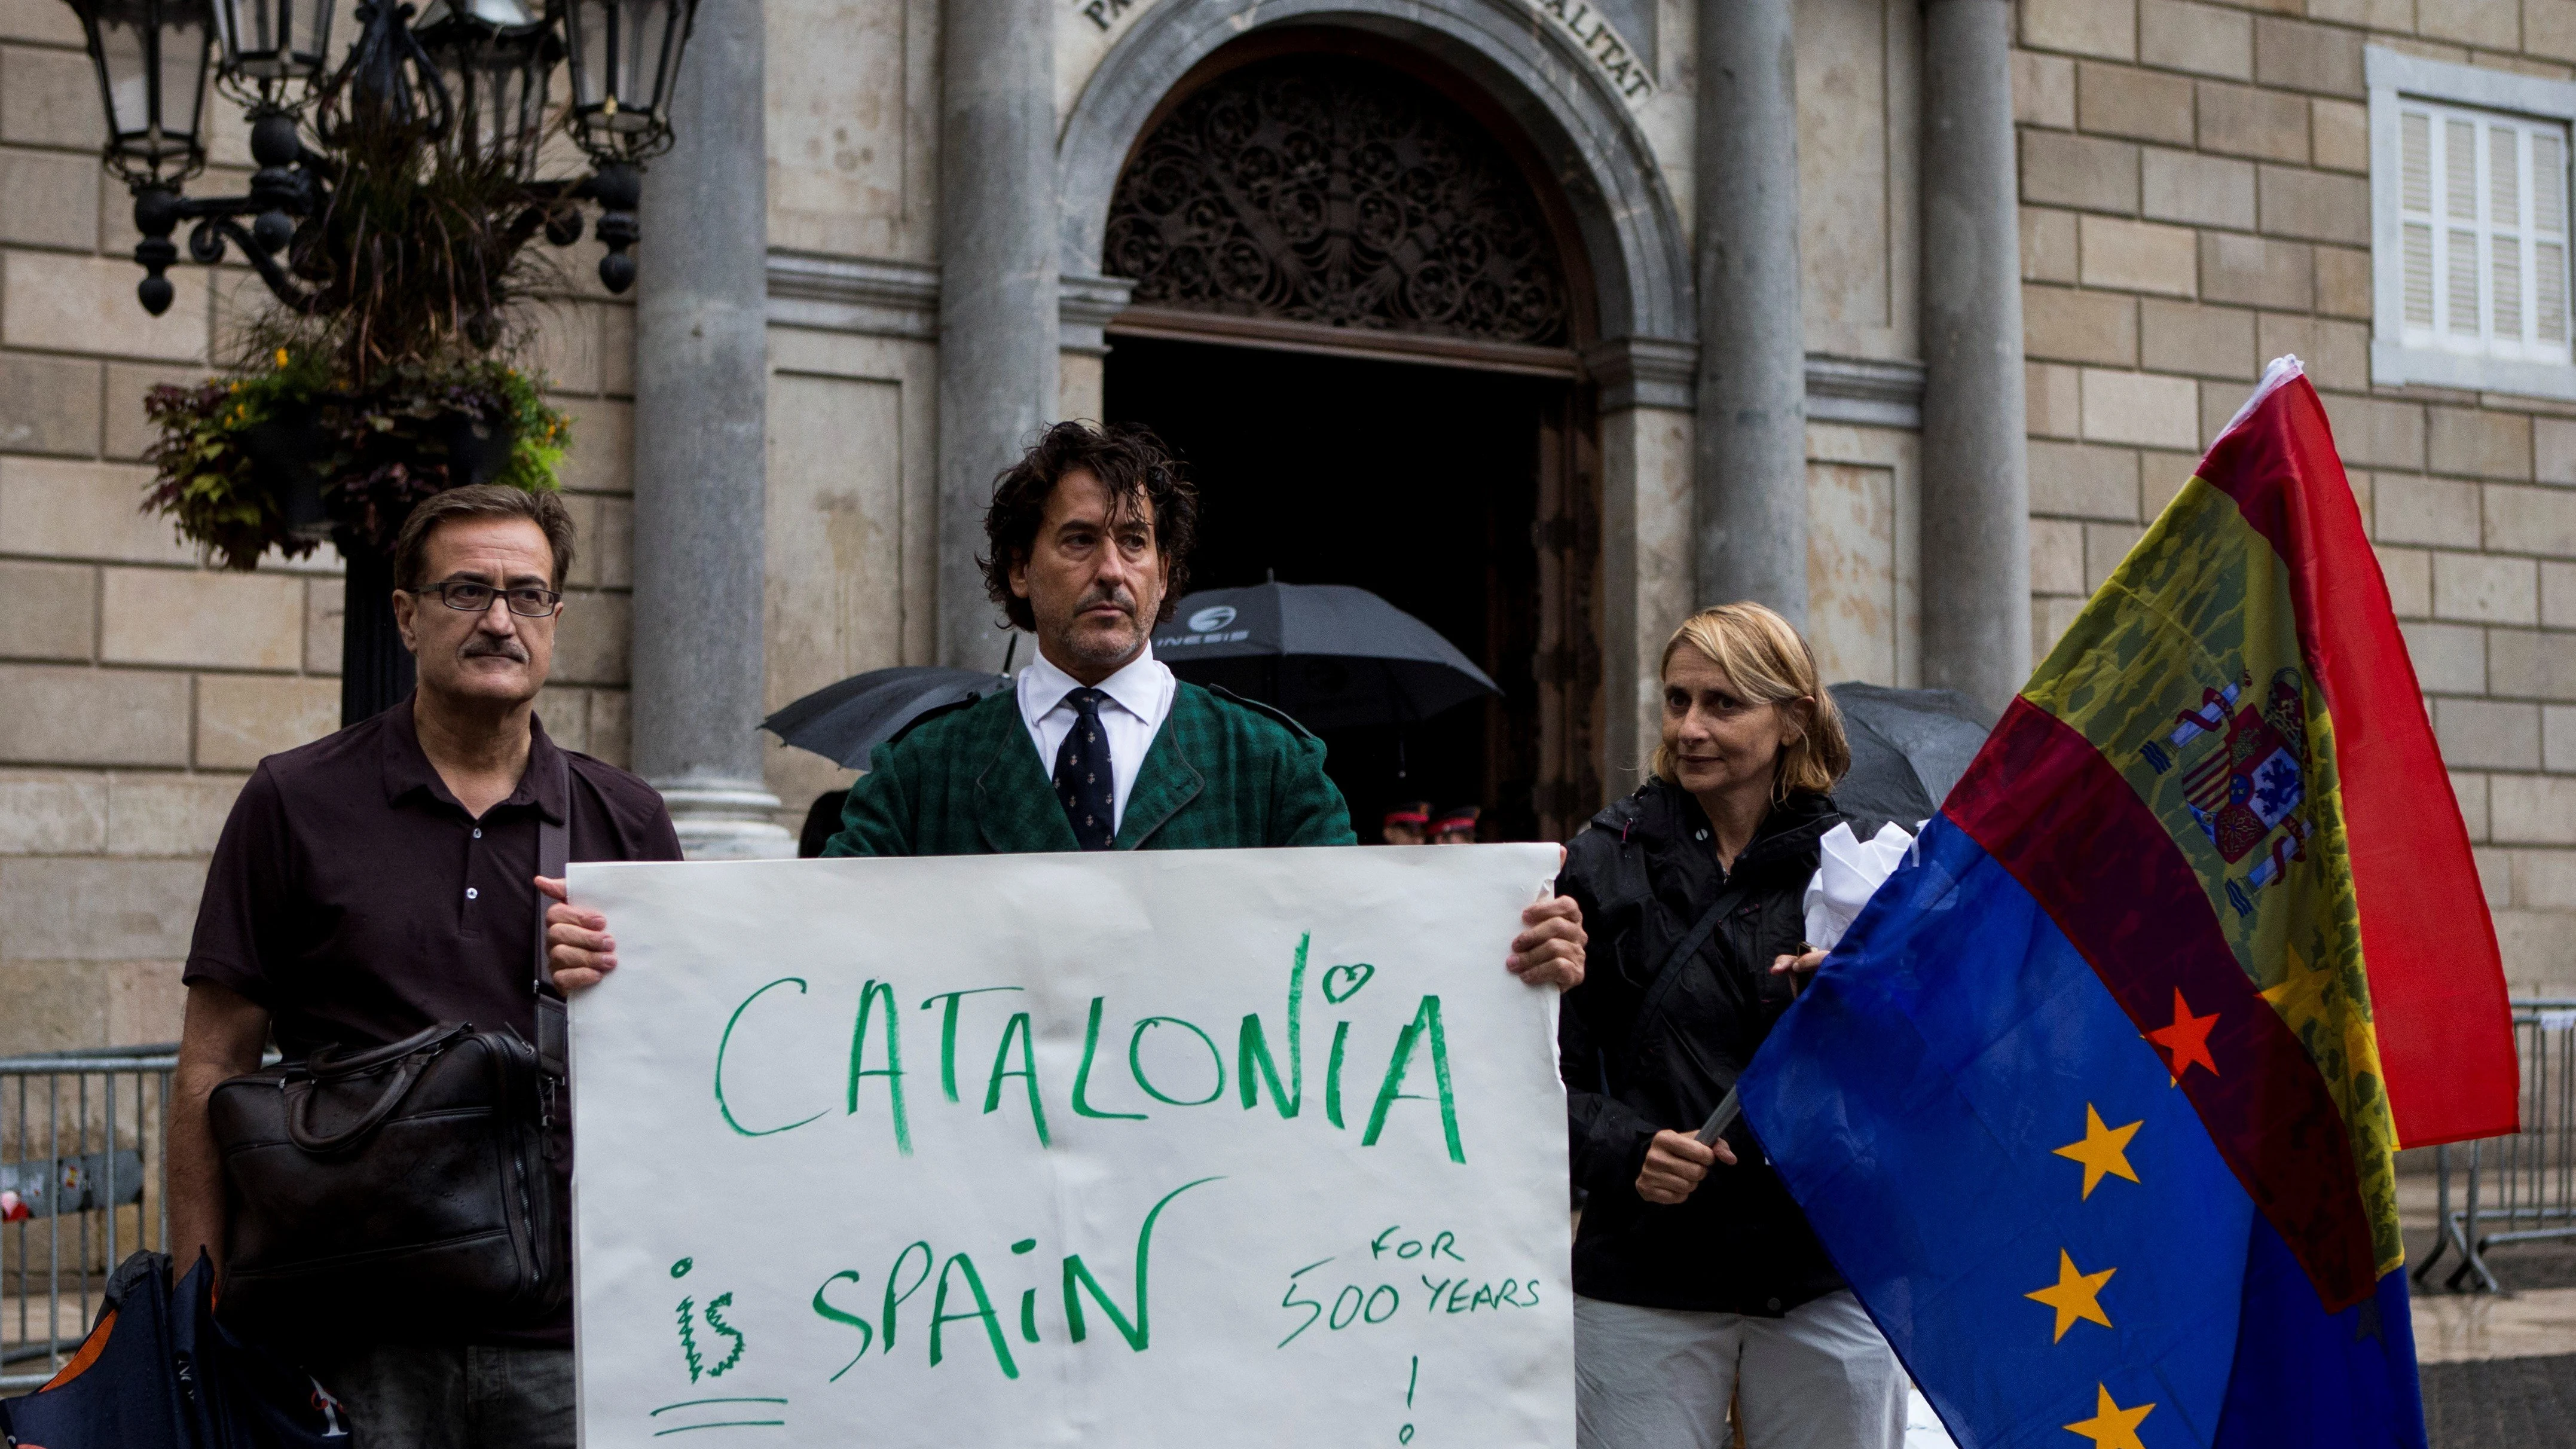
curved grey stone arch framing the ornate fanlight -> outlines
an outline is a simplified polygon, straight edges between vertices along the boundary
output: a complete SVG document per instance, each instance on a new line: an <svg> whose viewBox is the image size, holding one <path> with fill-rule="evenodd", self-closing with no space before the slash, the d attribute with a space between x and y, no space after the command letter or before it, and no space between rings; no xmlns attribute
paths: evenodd
<svg viewBox="0 0 2576 1449"><path fill-rule="evenodd" d="M1103 57L1056 147L1064 275L1103 270L1118 178L1167 93L1221 46L1273 26L1376 33L1463 75L1556 178L1597 335L1695 342L1690 247L1643 129L1589 57L1520 0L1157 0Z"/></svg>

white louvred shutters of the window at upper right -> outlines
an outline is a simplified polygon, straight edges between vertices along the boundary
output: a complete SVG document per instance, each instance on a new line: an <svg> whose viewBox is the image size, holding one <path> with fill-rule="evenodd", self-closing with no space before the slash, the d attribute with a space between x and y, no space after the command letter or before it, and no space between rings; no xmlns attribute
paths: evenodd
<svg viewBox="0 0 2576 1449"><path fill-rule="evenodd" d="M2568 363L2568 126L2403 98L2403 342Z"/></svg>

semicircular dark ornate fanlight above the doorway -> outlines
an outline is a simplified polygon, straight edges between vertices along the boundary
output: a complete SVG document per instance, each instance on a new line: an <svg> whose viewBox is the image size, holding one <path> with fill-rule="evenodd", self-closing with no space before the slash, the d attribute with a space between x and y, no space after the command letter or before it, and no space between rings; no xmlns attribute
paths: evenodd
<svg viewBox="0 0 2576 1449"><path fill-rule="evenodd" d="M1564 268L1463 111L1340 57L1247 64L1164 118L1110 201L1136 304L1564 345Z"/></svg>

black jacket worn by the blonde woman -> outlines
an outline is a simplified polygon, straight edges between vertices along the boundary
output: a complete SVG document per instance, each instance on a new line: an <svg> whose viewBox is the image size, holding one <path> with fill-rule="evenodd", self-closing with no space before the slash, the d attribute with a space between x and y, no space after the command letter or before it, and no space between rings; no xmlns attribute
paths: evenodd
<svg viewBox="0 0 2576 1449"><path fill-rule="evenodd" d="M1646 780L1566 847L1556 891L1582 906L1592 937L1589 973L1558 1019L1574 1181L1589 1192L1574 1235L1574 1292L1780 1315L1842 1287L1741 1120L1726 1132L1736 1166L1713 1163L1672 1207L1636 1194L1656 1130L1698 1132L1788 1009L1788 978L1770 965L1806 937L1816 842L1839 818L1829 795L1790 795L1726 875L1700 803ZM1680 978L1654 1019L1638 1022L1656 968L1728 880L1744 896L1674 968Z"/></svg>

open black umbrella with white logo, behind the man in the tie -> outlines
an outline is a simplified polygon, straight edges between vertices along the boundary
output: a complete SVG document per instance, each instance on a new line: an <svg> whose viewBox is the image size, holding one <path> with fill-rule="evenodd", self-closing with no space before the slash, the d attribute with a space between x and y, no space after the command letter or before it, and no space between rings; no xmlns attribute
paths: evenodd
<svg viewBox="0 0 2576 1449"><path fill-rule="evenodd" d="M1154 659L1193 685L1278 705L1306 728L1427 721L1502 695L1419 618L1347 584L1252 584L1180 600Z"/></svg>

